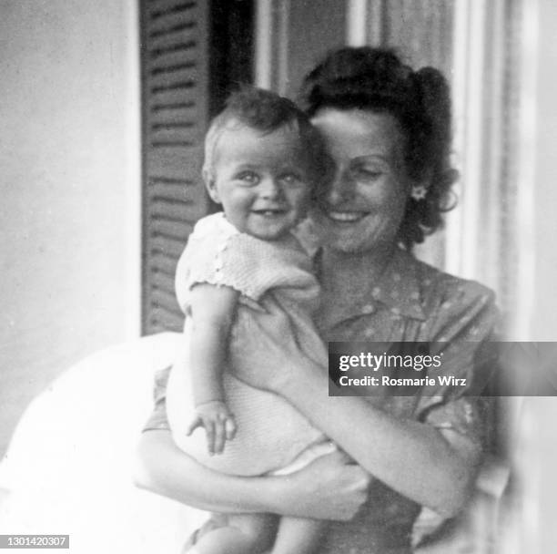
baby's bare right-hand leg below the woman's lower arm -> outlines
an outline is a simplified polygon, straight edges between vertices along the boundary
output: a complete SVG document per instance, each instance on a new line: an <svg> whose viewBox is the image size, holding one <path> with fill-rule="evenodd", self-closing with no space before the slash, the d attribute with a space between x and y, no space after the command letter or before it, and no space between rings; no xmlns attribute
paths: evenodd
<svg viewBox="0 0 557 554"><path fill-rule="evenodd" d="M271 554L314 554L325 536L327 521L280 518Z"/></svg>

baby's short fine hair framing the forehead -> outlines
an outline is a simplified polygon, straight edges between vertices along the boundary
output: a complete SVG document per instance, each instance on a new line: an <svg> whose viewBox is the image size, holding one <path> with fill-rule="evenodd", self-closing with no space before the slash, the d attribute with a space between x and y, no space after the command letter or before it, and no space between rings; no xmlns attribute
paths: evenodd
<svg viewBox="0 0 557 554"><path fill-rule="evenodd" d="M326 172L326 154L323 140L317 129L311 125L308 116L289 98L248 86L233 92L228 97L226 107L211 121L205 137L205 175L213 177L218 139L223 131L234 130L234 127L230 127L231 124L253 128L264 134L285 126L297 132L308 156L313 184L319 185Z"/></svg>

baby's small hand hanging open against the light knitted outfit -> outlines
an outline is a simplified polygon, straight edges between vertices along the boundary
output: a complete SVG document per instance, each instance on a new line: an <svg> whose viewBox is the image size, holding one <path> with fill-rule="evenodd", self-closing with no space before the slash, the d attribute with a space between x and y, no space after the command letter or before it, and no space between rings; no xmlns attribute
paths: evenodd
<svg viewBox="0 0 557 554"><path fill-rule="evenodd" d="M205 427L209 454L222 454L225 441L232 440L236 435L234 415L220 400L197 405L196 412L194 420L187 426L187 435L191 435L197 427Z"/></svg>

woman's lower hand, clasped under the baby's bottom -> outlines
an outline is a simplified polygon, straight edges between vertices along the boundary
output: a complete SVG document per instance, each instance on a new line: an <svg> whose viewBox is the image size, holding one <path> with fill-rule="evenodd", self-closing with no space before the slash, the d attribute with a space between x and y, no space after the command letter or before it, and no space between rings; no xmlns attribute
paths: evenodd
<svg viewBox="0 0 557 554"><path fill-rule="evenodd" d="M368 498L370 474L349 463L349 457L337 451L309 464L287 477L280 509L300 518L349 521Z"/></svg>

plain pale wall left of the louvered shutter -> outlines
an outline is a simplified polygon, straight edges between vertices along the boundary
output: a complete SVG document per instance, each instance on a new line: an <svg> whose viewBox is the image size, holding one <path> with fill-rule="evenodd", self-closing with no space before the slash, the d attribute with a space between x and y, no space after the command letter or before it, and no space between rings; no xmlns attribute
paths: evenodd
<svg viewBox="0 0 557 554"><path fill-rule="evenodd" d="M138 333L136 4L0 0L0 455L54 375Z"/></svg>

